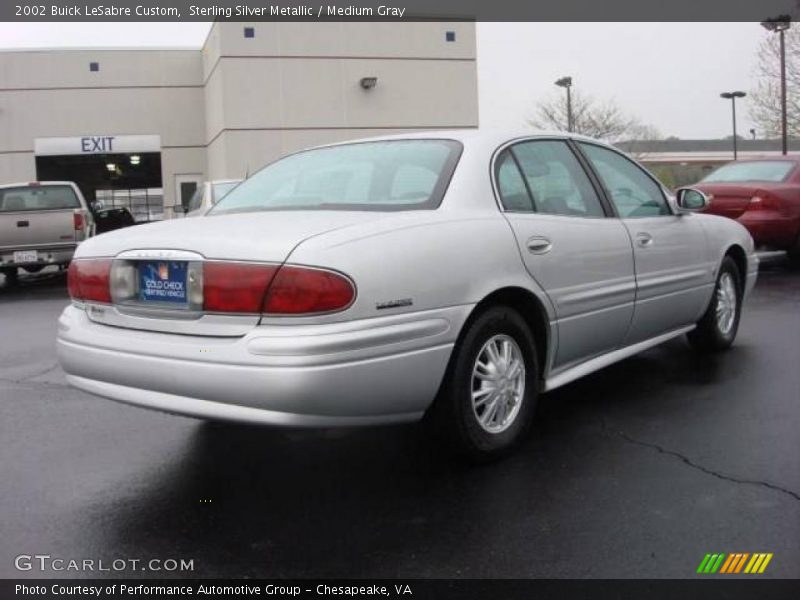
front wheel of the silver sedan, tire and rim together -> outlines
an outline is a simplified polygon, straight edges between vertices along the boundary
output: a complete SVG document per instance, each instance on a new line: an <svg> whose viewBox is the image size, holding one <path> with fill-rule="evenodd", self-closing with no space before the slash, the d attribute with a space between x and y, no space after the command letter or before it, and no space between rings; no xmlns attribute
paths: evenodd
<svg viewBox="0 0 800 600"><path fill-rule="evenodd" d="M708 309L697 322L697 328L687 335L692 346L705 352L719 352L733 344L742 312L742 289L739 269L734 260L726 256Z"/></svg>

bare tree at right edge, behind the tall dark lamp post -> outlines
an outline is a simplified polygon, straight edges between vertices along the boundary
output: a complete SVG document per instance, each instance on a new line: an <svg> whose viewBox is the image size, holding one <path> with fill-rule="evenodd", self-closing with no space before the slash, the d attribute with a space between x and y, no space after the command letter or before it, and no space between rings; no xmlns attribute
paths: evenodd
<svg viewBox="0 0 800 600"><path fill-rule="evenodd" d="M786 131L800 135L800 28L789 29L786 38ZM760 137L781 135L781 52L779 36L765 33L758 49L755 90L750 92L750 118Z"/></svg>

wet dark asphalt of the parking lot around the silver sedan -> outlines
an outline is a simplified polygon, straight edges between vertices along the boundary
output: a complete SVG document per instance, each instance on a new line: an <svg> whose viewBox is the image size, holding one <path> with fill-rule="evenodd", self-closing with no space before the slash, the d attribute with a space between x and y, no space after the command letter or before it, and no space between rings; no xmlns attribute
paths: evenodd
<svg viewBox="0 0 800 600"><path fill-rule="evenodd" d="M717 552L800 577L800 272L780 261L731 351L676 340L542 396L520 451L483 467L419 426L214 425L70 389L64 288L0 284L0 577L686 578Z"/></svg>

